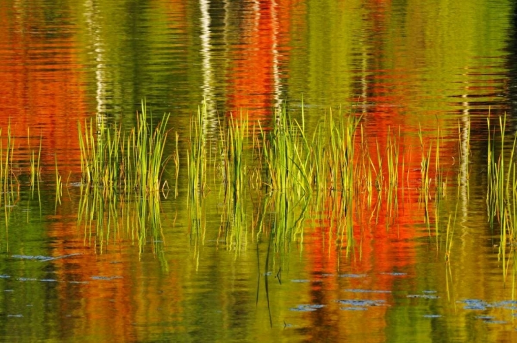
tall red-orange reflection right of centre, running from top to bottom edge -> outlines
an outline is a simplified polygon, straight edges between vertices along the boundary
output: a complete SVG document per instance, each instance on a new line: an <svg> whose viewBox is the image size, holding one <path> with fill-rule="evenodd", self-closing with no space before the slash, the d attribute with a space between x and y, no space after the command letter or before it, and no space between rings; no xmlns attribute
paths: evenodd
<svg viewBox="0 0 517 343"><path fill-rule="evenodd" d="M345 298L383 302L372 310L357 312L358 315L344 315L341 311L346 310L333 310L340 306L346 307L341 304L329 306L332 309L308 314L313 322L312 327L315 328L316 340L317 337L332 341L351 340L354 335L365 332L371 333L369 337L374 341L385 340L389 305L393 303L391 292L401 282L407 289L416 287L414 276L418 265L418 238L427 236L426 222L430 222L434 229L437 145L440 146L440 167L444 168L443 175L449 182L456 180L457 165L452 167L452 164L453 157L458 156L457 133L454 129L440 132L440 137L452 139L440 140L438 143L437 129L440 124L433 118L432 127L429 127L429 123L422 123L423 128L431 131L423 132L424 147L421 147L418 122L408 123L405 116L408 112L405 104L411 102L412 94L407 91L407 87L394 86L394 83L403 85L407 76L401 73L397 80L386 80L383 76L386 50L383 33L388 27L385 21L389 19L390 1L369 1L365 6L369 9L368 22L376 37L372 39L374 48L372 55L368 57L371 63L365 63L372 68L367 72L372 76L365 80L368 83L366 94L361 89L356 91L356 94L364 95L361 100L368 105L361 121L367 140L365 150L356 149L354 163L355 166L363 163L368 167L369 159L361 160L361 156L369 156L376 169L372 170L373 181L375 182L376 176L380 178L382 191L379 195L374 186L371 205L368 205L364 189L356 191L353 203L347 207L347 214L343 211L341 196L329 194L323 212L318 213L321 219L316 220L316 229L310 233L310 238L305 239L303 252L311 257L305 266L307 275L312 280L322 281L311 284L312 303L335 304L337 300ZM361 134L358 132L356 143L360 140ZM386 189L389 182L387 156L389 145L393 145L395 141L399 146L396 167L398 186L389 194ZM430 205L426 209L425 201L421 198L421 162L423 156L427 158L429 149L429 178L433 180L430 195L433 200L429 200ZM381 163L378 162L378 156ZM345 216L351 216L352 227L345 220ZM353 233L350 234L347 230L353 230ZM305 237L307 236L309 235L306 233ZM333 277L326 278L325 275ZM365 292L346 293L347 289ZM330 326L339 327L339 332L318 330L320 327Z"/></svg>

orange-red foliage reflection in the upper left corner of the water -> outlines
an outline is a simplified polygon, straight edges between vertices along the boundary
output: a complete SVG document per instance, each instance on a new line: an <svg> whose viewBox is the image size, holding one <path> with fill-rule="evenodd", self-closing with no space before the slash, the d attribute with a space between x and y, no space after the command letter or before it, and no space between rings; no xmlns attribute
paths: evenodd
<svg viewBox="0 0 517 343"><path fill-rule="evenodd" d="M0 127L3 138L9 124L17 137L15 159L21 158L21 151L28 146L28 128L31 149L38 149L41 134L43 171L54 172L55 154L66 178L70 171L79 175L77 121L88 116L77 72L82 65L72 34L45 32L46 20L43 12L18 7L16 2L10 11L0 13L0 98L4 111ZM73 23L62 24L73 27Z"/></svg>

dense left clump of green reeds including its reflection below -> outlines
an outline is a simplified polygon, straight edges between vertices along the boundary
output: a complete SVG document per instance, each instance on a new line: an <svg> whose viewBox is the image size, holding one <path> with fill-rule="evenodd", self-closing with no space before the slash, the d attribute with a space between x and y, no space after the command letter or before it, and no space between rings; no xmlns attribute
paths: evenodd
<svg viewBox="0 0 517 343"><path fill-rule="evenodd" d="M142 101L136 127L129 130L92 120L85 122L84 130L78 124L83 182L78 225L84 227L85 242L102 253L110 241L128 239L137 241L142 253L150 237L165 269L159 191L168 185L161 178L170 158L164 156L169 116L164 114L154 125ZM177 147L174 163L177 195ZM59 186L61 176L56 175Z"/></svg>

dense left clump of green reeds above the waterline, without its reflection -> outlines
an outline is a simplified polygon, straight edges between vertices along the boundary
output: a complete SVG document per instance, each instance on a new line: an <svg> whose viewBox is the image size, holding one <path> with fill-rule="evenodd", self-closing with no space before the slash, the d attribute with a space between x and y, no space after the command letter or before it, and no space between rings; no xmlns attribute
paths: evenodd
<svg viewBox="0 0 517 343"><path fill-rule="evenodd" d="M136 115L136 127L128 134L121 125L108 126L103 121L85 122L84 130L78 123L83 183L123 191L134 189L142 195L163 187L161 176L169 159L164 158L163 152L170 115L164 114L152 129L152 117L148 118L145 101L141 107Z"/></svg>

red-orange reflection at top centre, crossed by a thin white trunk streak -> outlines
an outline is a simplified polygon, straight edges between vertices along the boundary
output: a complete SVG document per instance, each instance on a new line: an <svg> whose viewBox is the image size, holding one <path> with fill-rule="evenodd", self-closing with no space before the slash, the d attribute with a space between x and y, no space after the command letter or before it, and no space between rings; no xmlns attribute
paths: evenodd
<svg viewBox="0 0 517 343"><path fill-rule="evenodd" d="M227 108L235 116L249 110L252 118L271 116L277 105L280 66L287 59L292 0L250 1L241 11L239 43L232 46L234 58L228 74Z"/></svg>

